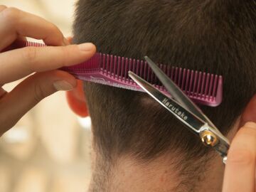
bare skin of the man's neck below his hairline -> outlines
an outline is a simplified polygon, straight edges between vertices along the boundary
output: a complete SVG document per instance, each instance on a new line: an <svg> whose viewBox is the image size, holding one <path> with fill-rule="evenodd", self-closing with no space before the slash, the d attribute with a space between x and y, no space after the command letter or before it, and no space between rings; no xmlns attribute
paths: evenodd
<svg viewBox="0 0 256 192"><path fill-rule="evenodd" d="M93 192L221 191L224 166L217 155L207 163L203 159L178 161L171 156L150 162L139 162L129 156L111 164L95 160L90 185Z"/></svg>

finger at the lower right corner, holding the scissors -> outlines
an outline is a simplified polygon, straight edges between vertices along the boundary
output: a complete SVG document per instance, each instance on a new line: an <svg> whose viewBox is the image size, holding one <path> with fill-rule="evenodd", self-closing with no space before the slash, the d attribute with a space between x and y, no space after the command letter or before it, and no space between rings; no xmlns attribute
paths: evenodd
<svg viewBox="0 0 256 192"><path fill-rule="evenodd" d="M228 151L223 192L255 192L256 124L246 123Z"/></svg>

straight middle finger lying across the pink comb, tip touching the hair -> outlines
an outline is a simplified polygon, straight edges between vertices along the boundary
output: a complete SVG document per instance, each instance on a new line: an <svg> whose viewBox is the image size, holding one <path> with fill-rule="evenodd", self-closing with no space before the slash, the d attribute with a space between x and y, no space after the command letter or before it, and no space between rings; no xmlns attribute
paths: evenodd
<svg viewBox="0 0 256 192"><path fill-rule="evenodd" d="M0 85L26 77L33 72L75 65L90 59L96 48L92 43L63 47L20 48L0 54Z"/></svg>

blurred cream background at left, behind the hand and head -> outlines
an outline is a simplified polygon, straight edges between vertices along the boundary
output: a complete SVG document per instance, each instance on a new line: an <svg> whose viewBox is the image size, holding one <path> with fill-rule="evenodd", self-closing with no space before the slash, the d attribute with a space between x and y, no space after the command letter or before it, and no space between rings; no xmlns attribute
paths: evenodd
<svg viewBox="0 0 256 192"><path fill-rule="evenodd" d="M0 0L55 23L72 36L76 0ZM5 85L10 91L18 82ZM85 192L90 119L68 108L65 92L46 98L0 138L0 192Z"/></svg>

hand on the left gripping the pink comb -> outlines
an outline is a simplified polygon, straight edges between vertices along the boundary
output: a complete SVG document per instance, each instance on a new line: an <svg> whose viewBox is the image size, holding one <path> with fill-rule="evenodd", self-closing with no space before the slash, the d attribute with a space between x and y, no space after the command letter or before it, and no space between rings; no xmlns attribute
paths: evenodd
<svg viewBox="0 0 256 192"><path fill-rule="evenodd" d="M42 39L48 47L19 48L1 53L17 39L26 40L26 37ZM52 23L0 5L0 136L44 97L76 86L72 75L55 69L88 60L96 48L92 43L68 44ZM31 76L11 92L1 88L27 75Z"/></svg>

